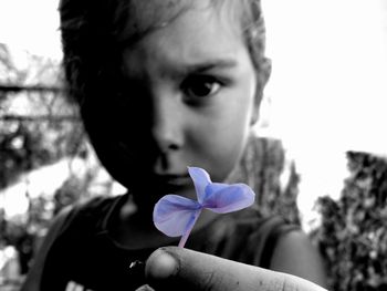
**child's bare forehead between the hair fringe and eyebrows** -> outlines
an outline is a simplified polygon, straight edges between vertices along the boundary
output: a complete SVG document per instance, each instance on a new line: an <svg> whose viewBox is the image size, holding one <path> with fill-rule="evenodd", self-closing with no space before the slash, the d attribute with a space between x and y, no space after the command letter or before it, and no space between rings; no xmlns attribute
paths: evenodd
<svg viewBox="0 0 387 291"><path fill-rule="evenodd" d="M218 70L237 75L245 70L254 74L244 40L227 20L213 10L189 9L168 25L125 45L122 72L163 86L168 84L164 81L180 80L191 72Z"/></svg>

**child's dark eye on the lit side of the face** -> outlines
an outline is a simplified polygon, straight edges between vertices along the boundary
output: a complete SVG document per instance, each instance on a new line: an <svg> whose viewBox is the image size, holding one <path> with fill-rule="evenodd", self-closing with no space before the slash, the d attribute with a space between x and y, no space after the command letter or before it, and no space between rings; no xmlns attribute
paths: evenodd
<svg viewBox="0 0 387 291"><path fill-rule="evenodd" d="M181 84L181 89L188 97L208 97L221 89L221 83L213 76L190 76Z"/></svg>

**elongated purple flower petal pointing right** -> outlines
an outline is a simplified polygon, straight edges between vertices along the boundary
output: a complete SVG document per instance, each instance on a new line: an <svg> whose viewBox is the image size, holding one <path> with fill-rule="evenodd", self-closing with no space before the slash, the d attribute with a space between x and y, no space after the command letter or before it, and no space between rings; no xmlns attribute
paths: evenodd
<svg viewBox="0 0 387 291"><path fill-rule="evenodd" d="M232 212L247 208L254 202L255 194L245 184L224 185L213 183L207 188L208 196L202 205L213 212Z"/></svg>

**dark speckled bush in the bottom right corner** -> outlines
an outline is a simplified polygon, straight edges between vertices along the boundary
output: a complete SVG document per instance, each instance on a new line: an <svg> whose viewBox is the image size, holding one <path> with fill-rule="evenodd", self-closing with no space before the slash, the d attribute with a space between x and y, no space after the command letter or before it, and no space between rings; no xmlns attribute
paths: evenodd
<svg viewBox="0 0 387 291"><path fill-rule="evenodd" d="M335 291L387 290L387 159L347 153L349 177L336 201L322 197L312 233Z"/></svg>

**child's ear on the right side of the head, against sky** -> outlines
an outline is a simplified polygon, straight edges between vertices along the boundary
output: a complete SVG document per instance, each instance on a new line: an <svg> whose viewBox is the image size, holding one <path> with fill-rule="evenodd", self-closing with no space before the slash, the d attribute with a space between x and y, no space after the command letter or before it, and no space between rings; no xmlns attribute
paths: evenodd
<svg viewBox="0 0 387 291"><path fill-rule="evenodd" d="M257 71L257 89L255 97L253 104L253 113L251 116L251 125L254 125L258 122L260 116L261 101L263 96L263 90L266 85L271 75L271 60L264 58L260 64L260 69Z"/></svg>

